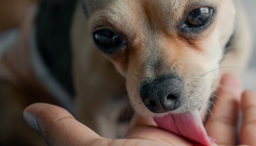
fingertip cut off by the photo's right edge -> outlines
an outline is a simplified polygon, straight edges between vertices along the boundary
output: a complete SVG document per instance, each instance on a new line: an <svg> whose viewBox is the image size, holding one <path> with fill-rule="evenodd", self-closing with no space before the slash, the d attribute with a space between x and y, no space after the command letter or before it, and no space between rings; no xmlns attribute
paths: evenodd
<svg viewBox="0 0 256 146"><path fill-rule="evenodd" d="M243 112L241 144L256 145L256 93L244 92L241 106Z"/></svg>

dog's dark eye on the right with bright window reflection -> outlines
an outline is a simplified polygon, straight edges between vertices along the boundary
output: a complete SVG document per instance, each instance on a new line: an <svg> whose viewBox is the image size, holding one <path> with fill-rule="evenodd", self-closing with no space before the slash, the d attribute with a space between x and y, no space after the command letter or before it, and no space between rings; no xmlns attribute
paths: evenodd
<svg viewBox="0 0 256 146"><path fill-rule="evenodd" d="M186 19L190 27L198 27L206 24L213 16L213 9L210 7L200 7L191 11Z"/></svg>

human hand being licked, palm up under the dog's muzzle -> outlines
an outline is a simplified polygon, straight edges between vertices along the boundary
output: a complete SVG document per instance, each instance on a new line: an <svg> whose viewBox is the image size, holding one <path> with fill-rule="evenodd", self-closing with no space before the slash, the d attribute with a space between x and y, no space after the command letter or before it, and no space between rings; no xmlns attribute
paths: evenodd
<svg viewBox="0 0 256 146"><path fill-rule="evenodd" d="M240 80L232 75L225 76L218 91L213 117L210 117L205 129L209 136L216 139L216 145L235 145L237 115L240 103ZM242 94L241 107L243 126L241 144L256 144L256 93L246 91ZM132 128L125 139L105 139L93 130L76 121L65 109L49 104L33 104L24 110L27 123L42 132L49 146L193 146L180 136L156 127L152 117L135 115Z"/></svg>

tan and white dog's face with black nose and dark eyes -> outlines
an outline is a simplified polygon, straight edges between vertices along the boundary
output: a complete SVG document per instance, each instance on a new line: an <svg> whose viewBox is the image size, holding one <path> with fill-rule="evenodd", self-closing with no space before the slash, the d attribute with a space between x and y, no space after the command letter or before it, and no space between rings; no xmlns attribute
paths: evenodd
<svg viewBox="0 0 256 146"><path fill-rule="evenodd" d="M84 0L96 46L137 113L204 109L234 30L233 0Z"/></svg>

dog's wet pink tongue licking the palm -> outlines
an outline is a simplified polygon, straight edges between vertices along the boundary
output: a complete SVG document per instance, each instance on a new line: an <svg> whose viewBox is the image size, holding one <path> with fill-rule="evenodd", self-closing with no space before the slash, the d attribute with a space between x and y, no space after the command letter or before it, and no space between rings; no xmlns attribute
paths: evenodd
<svg viewBox="0 0 256 146"><path fill-rule="evenodd" d="M210 146L215 142L207 136L198 110L179 115L168 114L154 120L160 128L199 144Z"/></svg>

